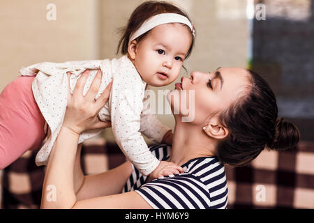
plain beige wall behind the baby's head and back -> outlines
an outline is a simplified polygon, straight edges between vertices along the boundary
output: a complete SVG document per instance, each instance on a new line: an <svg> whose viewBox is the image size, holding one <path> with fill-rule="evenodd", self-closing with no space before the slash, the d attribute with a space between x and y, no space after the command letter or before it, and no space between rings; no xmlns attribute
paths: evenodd
<svg viewBox="0 0 314 223"><path fill-rule="evenodd" d="M116 57L119 33L133 9L143 1L127 0L2 0L0 1L0 91L19 76L22 66L43 61L64 62ZM55 21L46 18L48 3L57 9ZM220 66L246 67L248 24L246 1L174 1L184 8L197 29L195 48L182 75ZM118 56L121 56L119 54ZM181 76L179 77L181 78ZM178 79L179 79L178 78ZM174 84L162 89L173 89ZM153 88L154 89L154 88ZM156 90L156 89L155 89ZM158 115L170 128L171 114ZM106 130L112 139L111 130Z"/></svg>

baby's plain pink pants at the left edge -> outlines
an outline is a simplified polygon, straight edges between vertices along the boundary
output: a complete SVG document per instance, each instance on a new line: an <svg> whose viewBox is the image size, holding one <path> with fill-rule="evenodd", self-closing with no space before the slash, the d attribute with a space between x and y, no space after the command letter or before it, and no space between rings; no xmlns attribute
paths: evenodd
<svg viewBox="0 0 314 223"><path fill-rule="evenodd" d="M0 93L0 169L45 139L45 119L33 98L34 77L17 77Z"/></svg>

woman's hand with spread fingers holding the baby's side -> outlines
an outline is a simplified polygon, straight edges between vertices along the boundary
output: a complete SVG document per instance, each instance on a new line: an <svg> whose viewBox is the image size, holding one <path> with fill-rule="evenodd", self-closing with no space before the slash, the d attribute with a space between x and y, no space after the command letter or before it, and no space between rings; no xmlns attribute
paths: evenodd
<svg viewBox="0 0 314 223"><path fill-rule="evenodd" d="M67 75L68 83L70 83L70 73L67 73ZM95 100L100 86L101 75L102 72L99 70L89 88L89 91L84 96L83 89L87 77L89 77L89 70L85 70L81 77L77 80L73 95L70 93L70 86L68 86L68 104L63 120L63 128L68 128L75 134L81 134L85 130L111 127L111 122L100 121L97 117L98 112L109 99L112 86L112 82L110 82L105 91L97 100Z"/></svg>

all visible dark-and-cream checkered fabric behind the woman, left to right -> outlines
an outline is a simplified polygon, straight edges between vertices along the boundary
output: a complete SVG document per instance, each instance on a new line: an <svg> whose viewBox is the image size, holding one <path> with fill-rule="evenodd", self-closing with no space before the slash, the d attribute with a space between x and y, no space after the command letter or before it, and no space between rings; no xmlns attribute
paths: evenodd
<svg viewBox="0 0 314 223"><path fill-rule="evenodd" d="M2 173L2 208L38 208L45 173L29 151ZM84 174L117 167L125 157L117 144L94 139L82 148ZM297 150L263 151L248 167L226 167L228 208L314 208L314 142Z"/></svg>

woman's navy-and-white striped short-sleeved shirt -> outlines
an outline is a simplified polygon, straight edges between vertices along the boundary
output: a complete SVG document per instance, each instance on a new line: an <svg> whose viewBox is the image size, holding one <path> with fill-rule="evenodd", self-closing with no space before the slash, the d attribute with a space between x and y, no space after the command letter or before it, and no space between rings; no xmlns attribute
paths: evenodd
<svg viewBox="0 0 314 223"><path fill-rule="evenodd" d="M158 160L167 160L171 146L150 147ZM198 157L189 160L181 167L183 174L175 174L147 182L133 167L122 192L135 191L153 208L198 209L227 208L227 180L225 168L216 156Z"/></svg>

